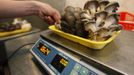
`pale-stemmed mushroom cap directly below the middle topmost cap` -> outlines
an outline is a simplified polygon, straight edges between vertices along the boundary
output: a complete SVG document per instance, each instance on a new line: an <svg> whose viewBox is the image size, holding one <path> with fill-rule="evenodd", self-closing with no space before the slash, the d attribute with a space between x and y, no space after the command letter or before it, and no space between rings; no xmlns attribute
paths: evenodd
<svg viewBox="0 0 134 75"><path fill-rule="evenodd" d="M99 27L99 25L105 20L107 17L108 13L106 11L100 11L95 14L96 16L96 26Z"/></svg>

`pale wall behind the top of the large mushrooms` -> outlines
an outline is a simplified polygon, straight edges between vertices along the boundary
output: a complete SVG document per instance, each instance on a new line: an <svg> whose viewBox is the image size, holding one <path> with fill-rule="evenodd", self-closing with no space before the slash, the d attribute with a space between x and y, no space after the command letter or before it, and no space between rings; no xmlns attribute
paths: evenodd
<svg viewBox="0 0 134 75"><path fill-rule="evenodd" d="M83 7L84 3L88 0L67 0L66 6L78 6ZM109 0L117 1L120 4L119 11L127 11L134 14L134 0Z"/></svg>

